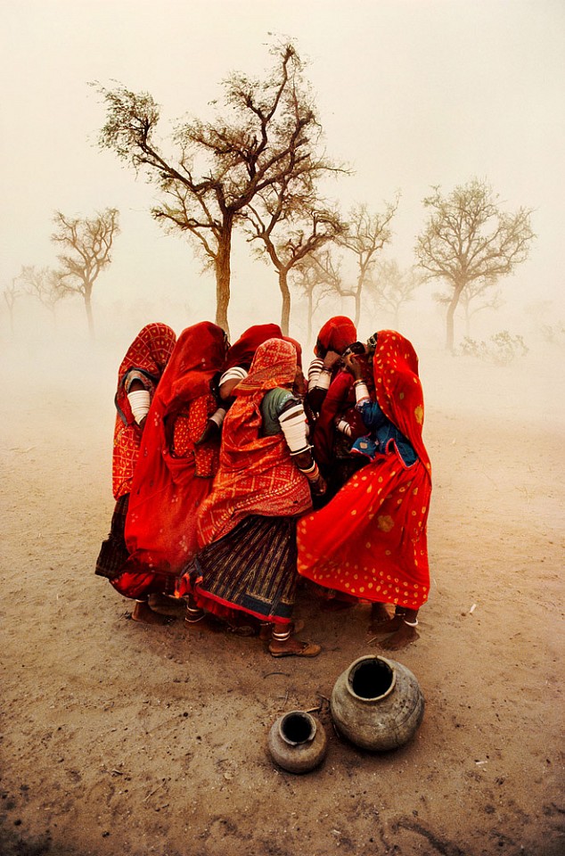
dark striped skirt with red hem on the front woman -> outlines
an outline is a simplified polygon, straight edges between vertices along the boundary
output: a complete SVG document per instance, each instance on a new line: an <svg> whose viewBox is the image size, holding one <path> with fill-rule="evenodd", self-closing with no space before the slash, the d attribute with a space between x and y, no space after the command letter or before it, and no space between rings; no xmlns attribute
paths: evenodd
<svg viewBox="0 0 565 856"><path fill-rule="evenodd" d="M260 621L291 621L296 523L296 517L250 515L204 547L183 575L197 604L220 617L235 609Z"/></svg>

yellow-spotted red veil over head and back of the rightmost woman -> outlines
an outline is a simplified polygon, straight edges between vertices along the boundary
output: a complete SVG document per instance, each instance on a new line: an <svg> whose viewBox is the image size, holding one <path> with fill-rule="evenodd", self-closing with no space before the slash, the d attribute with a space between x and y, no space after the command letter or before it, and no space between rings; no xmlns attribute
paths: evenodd
<svg viewBox="0 0 565 856"><path fill-rule="evenodd" d="M423 392L414 346L396 330L379 330L373 340L376 340L373 375L379 407L410 440L430 473L430 457L422 440Z"/></svg>

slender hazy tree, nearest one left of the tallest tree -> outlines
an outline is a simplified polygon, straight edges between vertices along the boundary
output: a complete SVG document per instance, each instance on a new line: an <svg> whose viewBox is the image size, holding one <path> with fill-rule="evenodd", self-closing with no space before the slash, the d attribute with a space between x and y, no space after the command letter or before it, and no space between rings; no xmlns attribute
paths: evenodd
<svg viewBox="0 0 565 856"><path fill-rule="evenodd" d="M119 234L119 212L107 208L93 218L69 218L57 211L53 221L57 228L51 240L63 250L57 256L61 292L82 295L88 331L94 340L92 291L98 275L111 262L112 243Z"/></svg>

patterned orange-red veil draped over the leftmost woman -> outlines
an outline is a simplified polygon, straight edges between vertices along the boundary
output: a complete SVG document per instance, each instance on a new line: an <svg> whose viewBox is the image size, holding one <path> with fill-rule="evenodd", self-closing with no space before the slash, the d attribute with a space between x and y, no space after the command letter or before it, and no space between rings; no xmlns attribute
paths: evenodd
<svg viewBox="0 0 565 856"><path fill-rule="evenodd" d="M131 490L135 464L139 457L142 430L135 423L127 400L127 376L135 373L152 396L160 376L167 366L176 335L166 324L148 324L135 336L121 361L116 391L116 425L112 454L112 492L114 499L125 496Z"/></svg>

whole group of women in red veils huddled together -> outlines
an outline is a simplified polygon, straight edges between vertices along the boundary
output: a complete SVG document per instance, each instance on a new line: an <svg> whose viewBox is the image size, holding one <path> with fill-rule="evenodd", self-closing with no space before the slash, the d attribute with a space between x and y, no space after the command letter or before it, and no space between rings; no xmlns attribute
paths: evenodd
<svg viewBox="0 0 565 856"><path fill-rule="evenodd" d="M254 635L274 657L314 657L293 621L302 581L331 613L371 605L389 650L417 638L429 594L430 459L414 348L357 342L332 317L307 378L274 324L232 345L210 322L178 339L143 327L119 366L116 506L96 573L132 618Z"/></svg>

